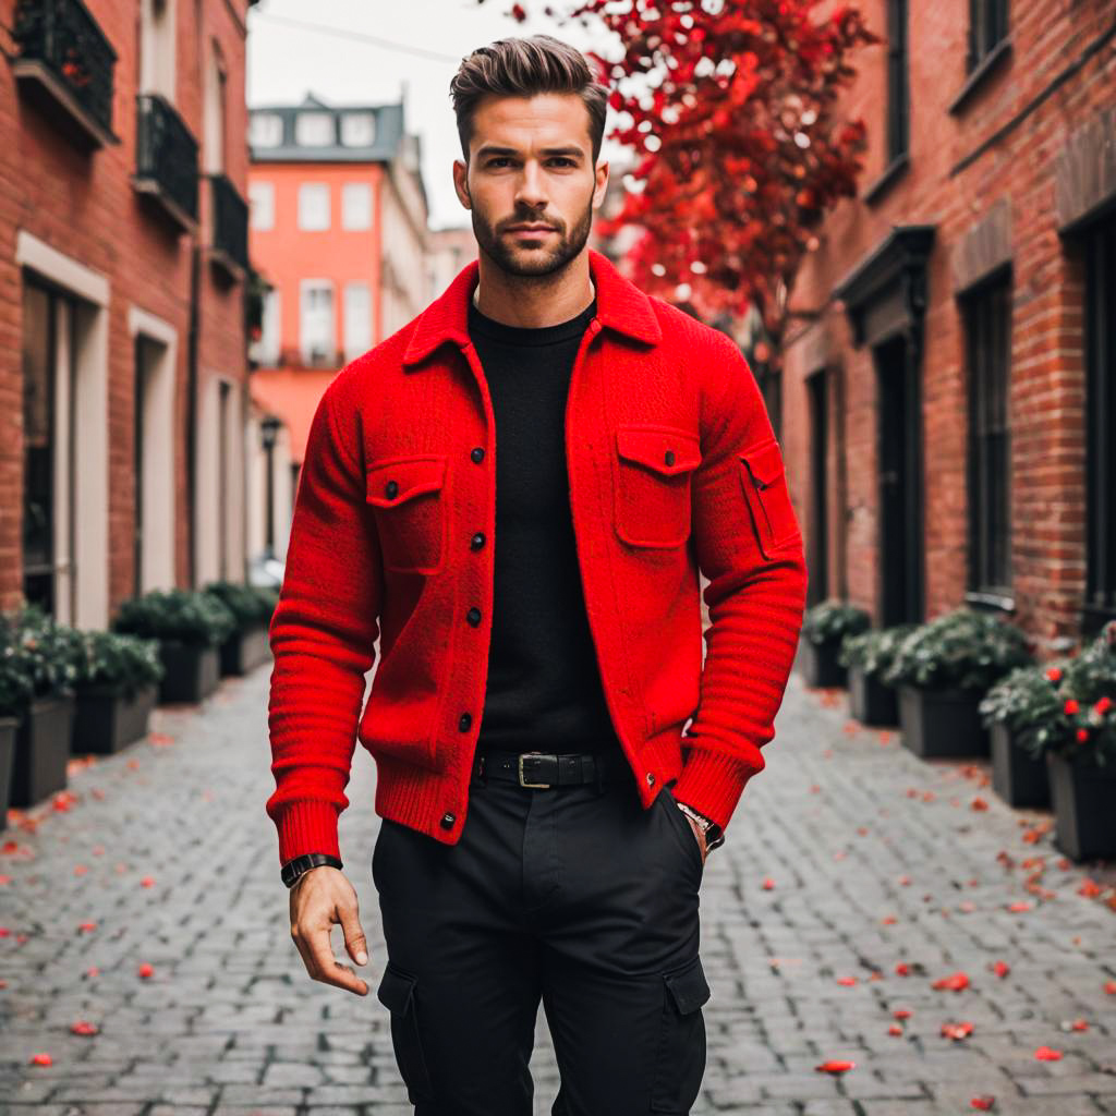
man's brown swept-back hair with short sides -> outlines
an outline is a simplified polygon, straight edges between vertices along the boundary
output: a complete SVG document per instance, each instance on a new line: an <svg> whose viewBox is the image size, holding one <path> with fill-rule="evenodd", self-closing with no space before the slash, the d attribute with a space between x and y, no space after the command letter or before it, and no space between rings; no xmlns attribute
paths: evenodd
<svg viewBox="0 0 1116 1116"><path fill-rule="evenodd" d="M501 97L576 93L589 110L589 137L596 165L605 134L608 88L596 79L580 50L551 35L532 35L498 39L463 58L450 83L450 96L466 164L477 106L490 93Z"/></svg>

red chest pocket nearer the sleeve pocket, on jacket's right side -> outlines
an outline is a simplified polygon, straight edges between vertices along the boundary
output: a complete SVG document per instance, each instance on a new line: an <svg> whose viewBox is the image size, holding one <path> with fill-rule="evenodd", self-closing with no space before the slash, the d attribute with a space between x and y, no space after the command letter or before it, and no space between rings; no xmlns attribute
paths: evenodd
<svg viewBox="0 0 1116 1116"><path fill-rule="evenodd" d="M626 424L616 431L616 533L633 547L680 547L690 537L690 482L701 463L696 434Z"/></svg>

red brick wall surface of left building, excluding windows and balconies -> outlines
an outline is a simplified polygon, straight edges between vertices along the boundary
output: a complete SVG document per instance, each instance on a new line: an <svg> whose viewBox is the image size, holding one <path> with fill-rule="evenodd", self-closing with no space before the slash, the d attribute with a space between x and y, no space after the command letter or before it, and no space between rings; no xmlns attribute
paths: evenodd
<svg viewBox="0 0 1116 1116"><path fill-rule="evenodd" d="M152 213L131 186L135 166L138 83L138 4L87 0L117 52L113 131L121 143L83 154L21 97L9 66L0 67L0 605L15 603L22 584L21 516L21 277L15 262L20 229L107 277L109 305L109 602L134 584L133 352L128 310L136 305L179 331L175 415L176 576L185 584L191 537L186 510L186 362L189 356L190 235ZM0 0L0 39L16 51L10 28L15 0ZM247 194L244 98L247 0L177 0L175 107L203 141L203 61L215 40L228 70L225 173ZM209 190L201 182L199 238L208 238ZM247 377L242 285L218 280L203 258L200 368L243 384ZM247 411L247 407L246 407ZM80 420L79 420L80 421ZM80 468L80 462L78 463ZM80 530L80 520L78 522Z"/></svg>

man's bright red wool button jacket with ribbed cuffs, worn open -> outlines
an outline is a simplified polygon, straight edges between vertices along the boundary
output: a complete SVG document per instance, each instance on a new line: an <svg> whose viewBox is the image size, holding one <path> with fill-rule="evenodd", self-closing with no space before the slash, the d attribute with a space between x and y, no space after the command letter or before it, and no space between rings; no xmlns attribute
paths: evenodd
<svg viewBox="0 0 1116 1116"><path fill-rule="evenodd" d="M642 805L677 778L675 797L723 829L775 737L806 604L801 532L735 344L593 249L589 262L597 316L571 372L566 456L605 698ZM477 282L473 261L346 365L315 414L270 629L266 809L281 862L339 856L356 740L376 761L377 814L461 837L497 541L492 403L466 330Z"/></svg>

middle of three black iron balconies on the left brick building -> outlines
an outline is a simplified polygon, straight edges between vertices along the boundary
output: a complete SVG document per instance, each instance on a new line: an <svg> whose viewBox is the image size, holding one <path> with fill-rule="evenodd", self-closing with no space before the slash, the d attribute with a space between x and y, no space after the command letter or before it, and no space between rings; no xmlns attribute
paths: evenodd
<svg viewBox="0 0 1116 1116"><path fill-rule="evenodd" d="M133 187L152 198L184 232L198 230L198 141L160 94L136 97Z"/></svg>

